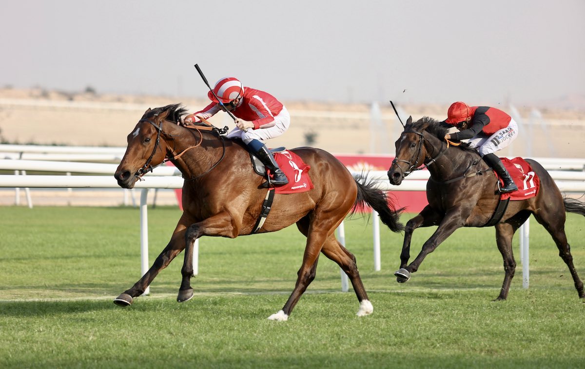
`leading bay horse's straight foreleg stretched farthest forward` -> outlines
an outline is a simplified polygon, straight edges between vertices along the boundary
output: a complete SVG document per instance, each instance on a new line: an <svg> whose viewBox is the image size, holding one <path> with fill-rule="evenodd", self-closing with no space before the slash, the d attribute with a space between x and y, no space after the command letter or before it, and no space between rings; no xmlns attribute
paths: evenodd
<svg viewBox="0 0 585 369"><path fill-rule="evenodd" d="M183 226L177 226L175 229L175 233L173 237L171 237L170 242L167 244L167 247L157 256L156 260L152 264L152 267L144 273L142 278L138 280L130 289L126 289L118 298L114 299L114 304L120 306L128 306L131 305L133 299L136 296L140 296L146 290L146 287L150 285L150 283L154 280L161 270L167 267L167 265L173 260L183 249L185 249L185 242L184 242L184 229Z"/></svg>

